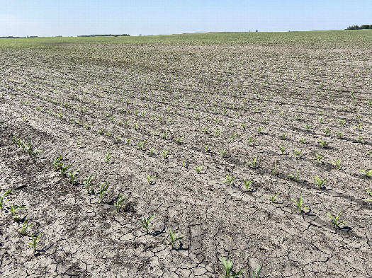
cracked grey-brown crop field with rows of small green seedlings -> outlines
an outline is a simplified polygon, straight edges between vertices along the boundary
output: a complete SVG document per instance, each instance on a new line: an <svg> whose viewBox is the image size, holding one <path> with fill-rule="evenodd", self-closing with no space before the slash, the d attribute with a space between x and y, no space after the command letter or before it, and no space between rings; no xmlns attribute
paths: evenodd
<svg viewBox="0 0 372 278"><path fill-rule="evenodd" d="M371 30L0 40L1 277L372 277L371 79Z"/></svg>

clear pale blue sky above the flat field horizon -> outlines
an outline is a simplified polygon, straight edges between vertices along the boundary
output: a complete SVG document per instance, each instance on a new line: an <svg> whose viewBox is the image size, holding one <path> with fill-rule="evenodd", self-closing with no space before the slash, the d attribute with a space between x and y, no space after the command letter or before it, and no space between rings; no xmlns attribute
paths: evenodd
<svg viewBox="0 0 372 278"><path fill-rule="evenodd" d="M372 24L372 0L0 0L0 36L332 30L362 24Z"/></svg>

